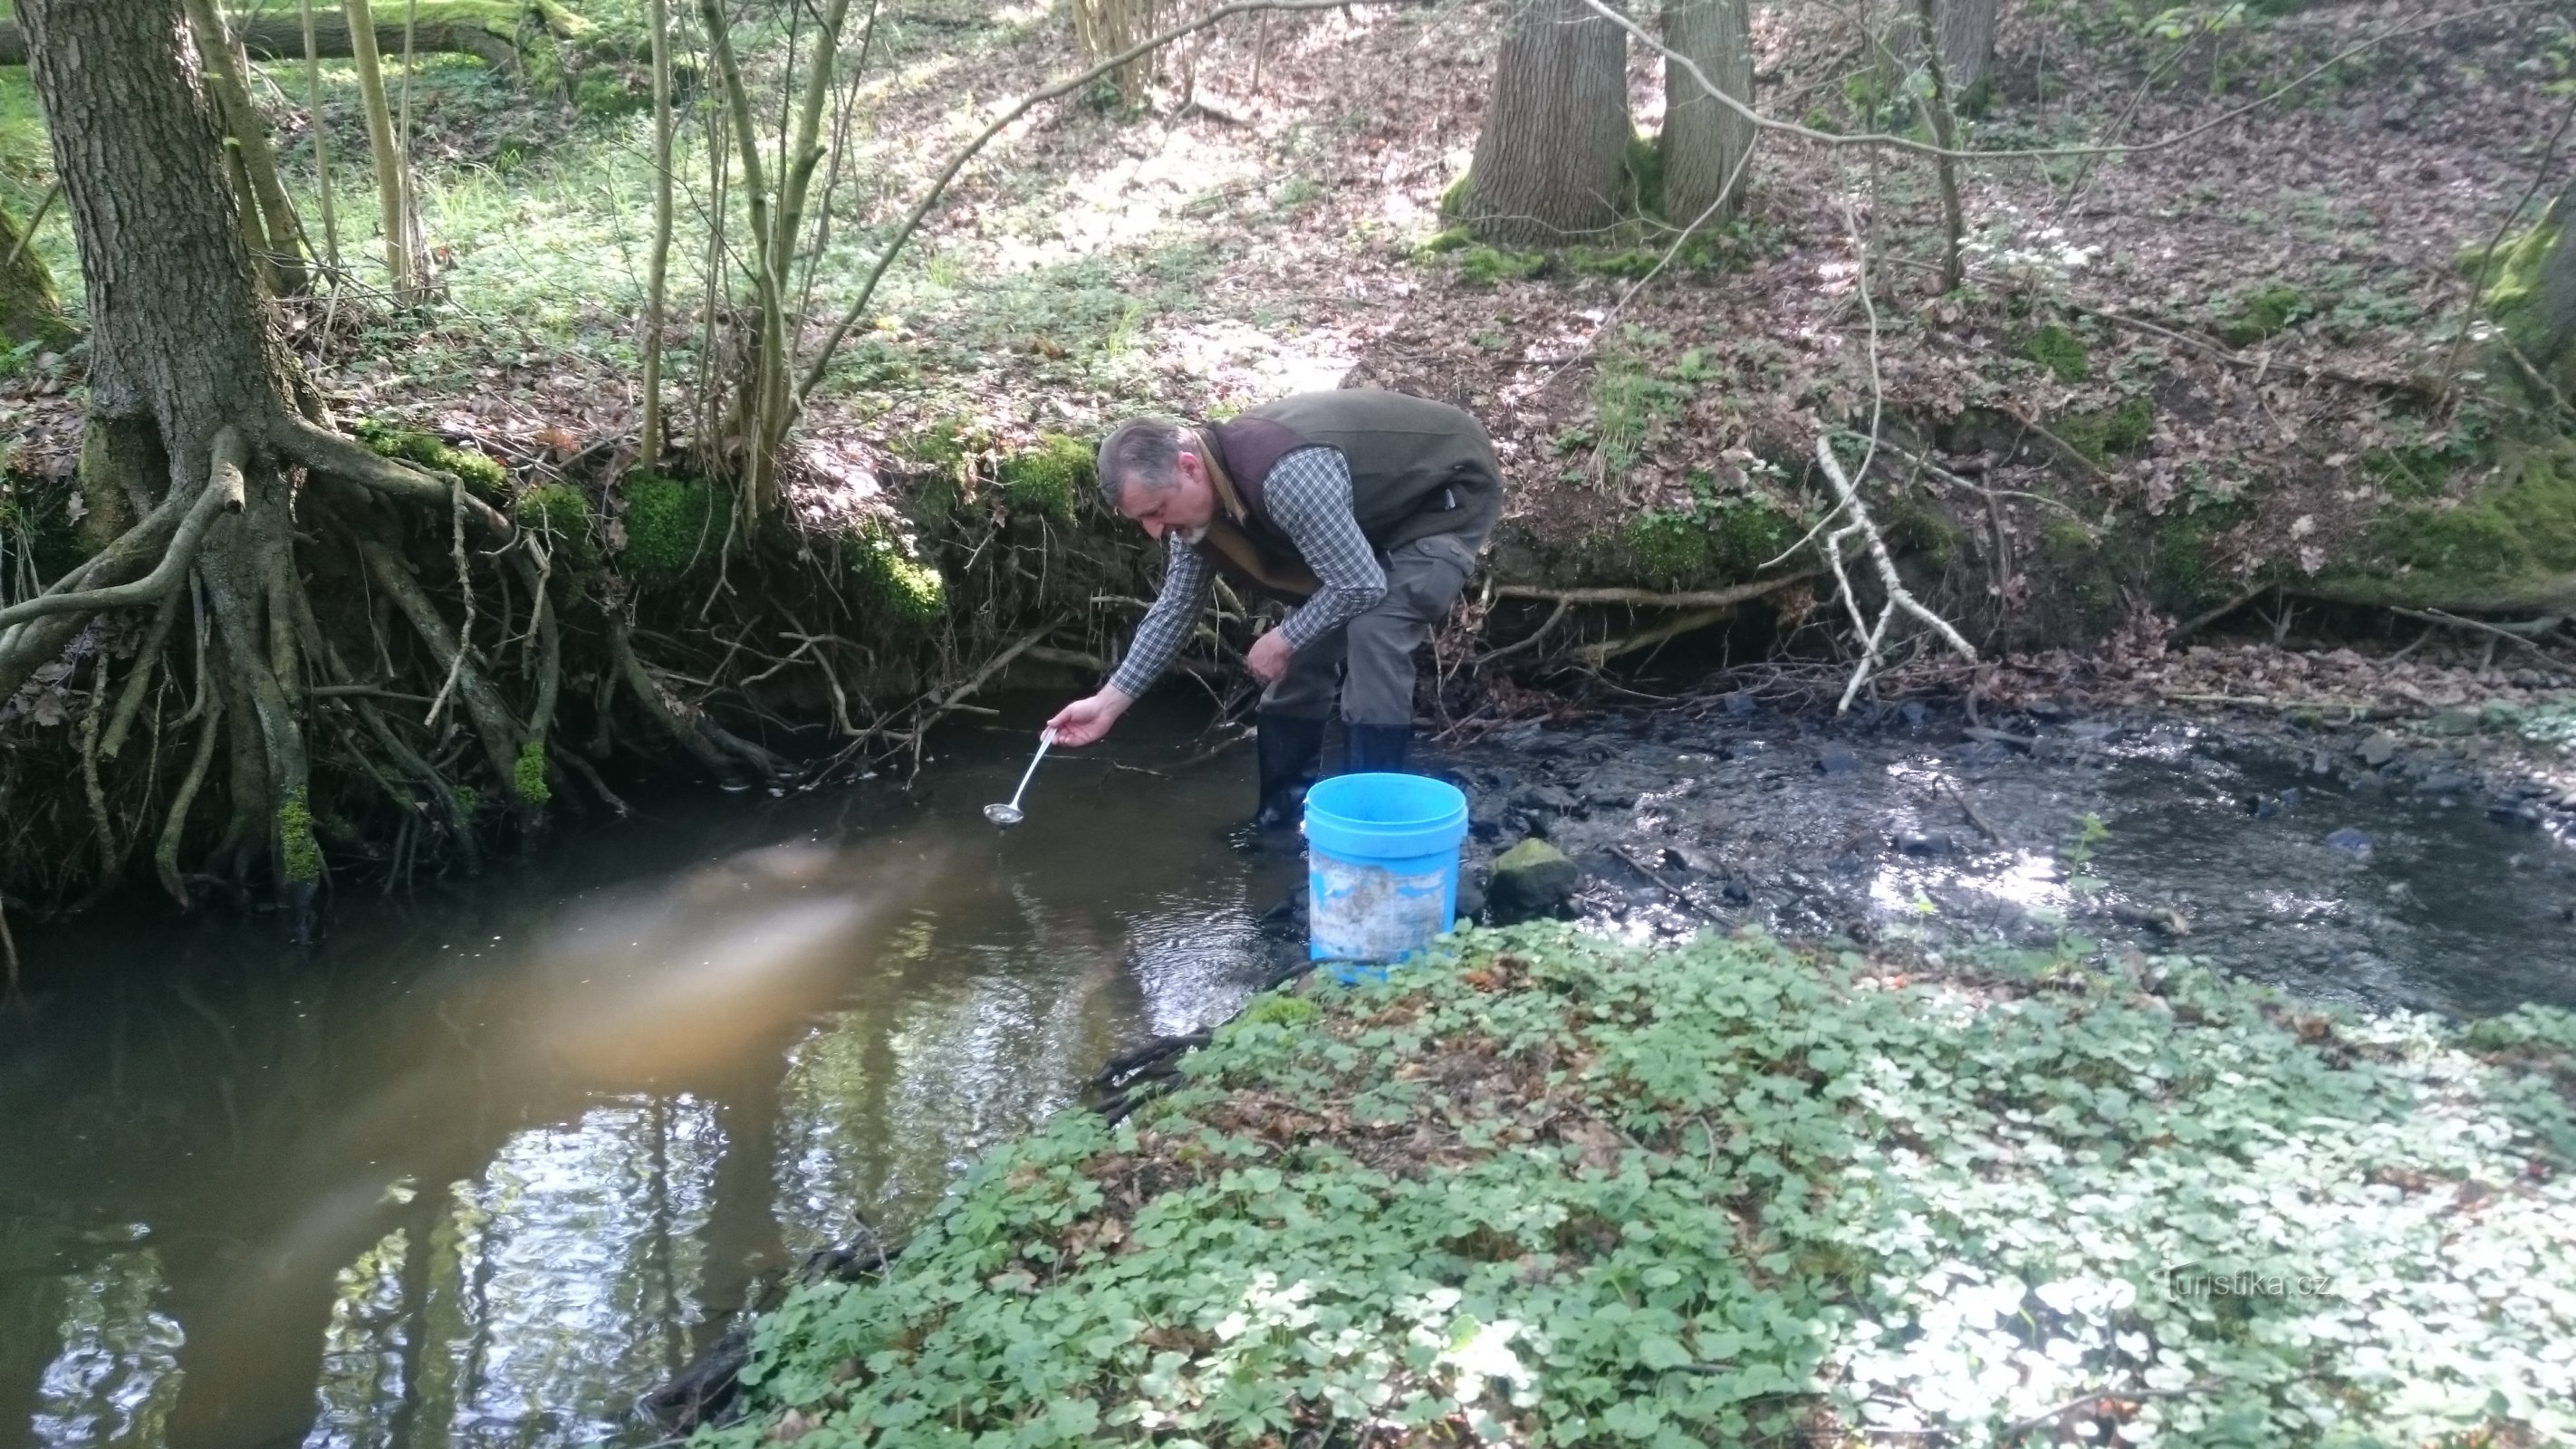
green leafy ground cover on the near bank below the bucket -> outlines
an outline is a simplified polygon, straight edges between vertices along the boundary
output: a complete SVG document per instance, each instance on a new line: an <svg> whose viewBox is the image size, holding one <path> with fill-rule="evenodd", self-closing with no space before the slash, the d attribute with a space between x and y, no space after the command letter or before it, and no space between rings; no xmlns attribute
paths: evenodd
<svg viewBox="0 0 2576 1449"><path fill-rule="evenodd" d="M2187 960L1473 932L994 1153L760 1323L711 1439L2566 1441L2568 1048Z"/></svg>

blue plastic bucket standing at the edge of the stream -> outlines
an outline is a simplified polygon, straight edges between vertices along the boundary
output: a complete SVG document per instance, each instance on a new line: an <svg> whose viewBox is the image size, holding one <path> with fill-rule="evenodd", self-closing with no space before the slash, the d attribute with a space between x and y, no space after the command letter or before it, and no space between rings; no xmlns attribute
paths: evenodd
<svg viewBox="0 0 2576 1449"><path fill-rule="evenodd" d="M1463 839L1455 785L1422 775L1316 780L1306 790L1309 960L1388 965L1450 929Z"/></svg>

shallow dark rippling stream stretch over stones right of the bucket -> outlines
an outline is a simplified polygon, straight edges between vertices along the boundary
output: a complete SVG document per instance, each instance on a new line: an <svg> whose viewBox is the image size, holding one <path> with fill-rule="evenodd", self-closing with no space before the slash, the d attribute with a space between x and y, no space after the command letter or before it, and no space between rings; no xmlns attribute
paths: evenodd
<svg viewBox="0 0 2576 1449"><path fill-rule="evenodd" d="M1723 695L1445 757L1468 880L1538 836L1561 914L1680 934L2179 950L2303 996L2576 1001L2576 795L2380 726L1909 703L1855 723Z"/></svg>

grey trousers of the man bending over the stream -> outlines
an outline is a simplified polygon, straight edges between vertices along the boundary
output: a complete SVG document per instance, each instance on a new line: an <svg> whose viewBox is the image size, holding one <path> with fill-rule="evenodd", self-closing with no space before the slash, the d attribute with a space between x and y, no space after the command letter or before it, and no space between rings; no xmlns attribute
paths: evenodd
<svg viewBox="0 0 2576 1449"><path fill-rule="evenodd" d="M1291 654L1288 672L1262 690L1262 710L1324 718L1340 690L1342 721L1412 726L1414 649L1458 602L1458 589L1476 571L1476 543L1435 533L1381 556L1386 597Z"/></svg>

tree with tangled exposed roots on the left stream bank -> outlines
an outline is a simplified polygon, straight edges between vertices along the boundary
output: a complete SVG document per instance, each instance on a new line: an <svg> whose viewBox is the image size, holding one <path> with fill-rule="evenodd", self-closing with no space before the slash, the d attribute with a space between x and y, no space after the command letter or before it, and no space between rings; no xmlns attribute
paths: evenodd
<svg viewBox="0 0 2576 1449"><path fill-rule="evenodd" d="M204 615L175 636L211 636L211 649L196 654L211 664L188 664L173 646L167 672L193 674L191 692L211 705L193 715L204 718L193 754L209 754L216 721L229 741L232 826L216 854L265 854L304 921L322 878L307 674L332 661L335 679L348 682L301 574L345 571L350 535L371 546L368 530L384 530L374 522L381 510L371 512L376 494L435 504L459 538L471 525L482 556L526 556L507 551L507 517L461 484L376 458L314 422L319 401L268 327L240 226L242 196L224 165L219 100L198 72L183 3L21 0L18 15L90 296L82 486L100 499L134 497L142 517L44 597L0 607L0 695L57 656L85 618L160 607L193 577L188 600L201 600ZM299 476L309 479L301 489ZM299 530L340 533L340 564L317 556L299 569ZM466 556L461 543L456 556ZM417 589L407 566L397 561L394 571L384 587ZM420 633L448 669L456 646L438 651L440 631ZM507 780L515 726L469 667L459 661L456 672L477 726L502 726L497 741L482 734ZM108 703L100 695L93 674L90 710ZM147 803L157 803L157 785L144 780ZM191 793L160 826L121 831L129 844L157 836L173 878Z"/></svg>

